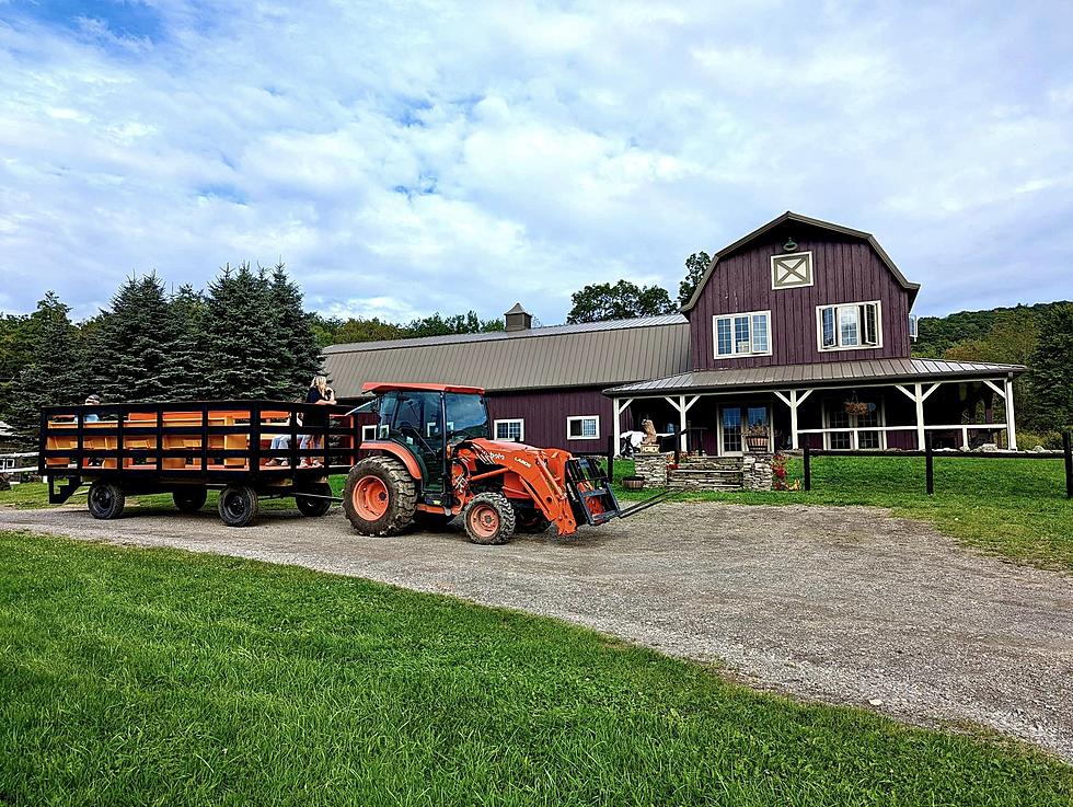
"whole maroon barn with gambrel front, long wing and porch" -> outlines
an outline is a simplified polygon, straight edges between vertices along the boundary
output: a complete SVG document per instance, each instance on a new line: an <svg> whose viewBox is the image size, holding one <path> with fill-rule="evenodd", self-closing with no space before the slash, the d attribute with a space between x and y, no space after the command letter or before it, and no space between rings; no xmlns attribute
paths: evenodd
<svg viewBox="0 0 1073 807"><path fill-rule="evenodd" d="M715 254L680 313L335 345L336 394L365 381L483 387L495 436L599 453L650 418L680 448L1016 448L1026 368L914 359L920 286L870 234L787 211Z"/></svg>

